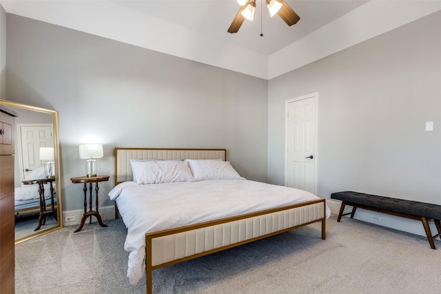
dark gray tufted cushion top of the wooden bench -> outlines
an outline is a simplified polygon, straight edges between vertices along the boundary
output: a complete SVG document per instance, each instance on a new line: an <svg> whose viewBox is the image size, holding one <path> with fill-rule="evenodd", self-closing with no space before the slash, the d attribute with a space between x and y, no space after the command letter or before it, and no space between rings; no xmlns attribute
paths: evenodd
<svg viewBox="0 0 441 294"><path fill-rule="evenodd" d="M353 191L332 193L331 198L376 209L384 209L412 216L424 216L441 220L441 205L418 201L376 196Z"/></svg>

